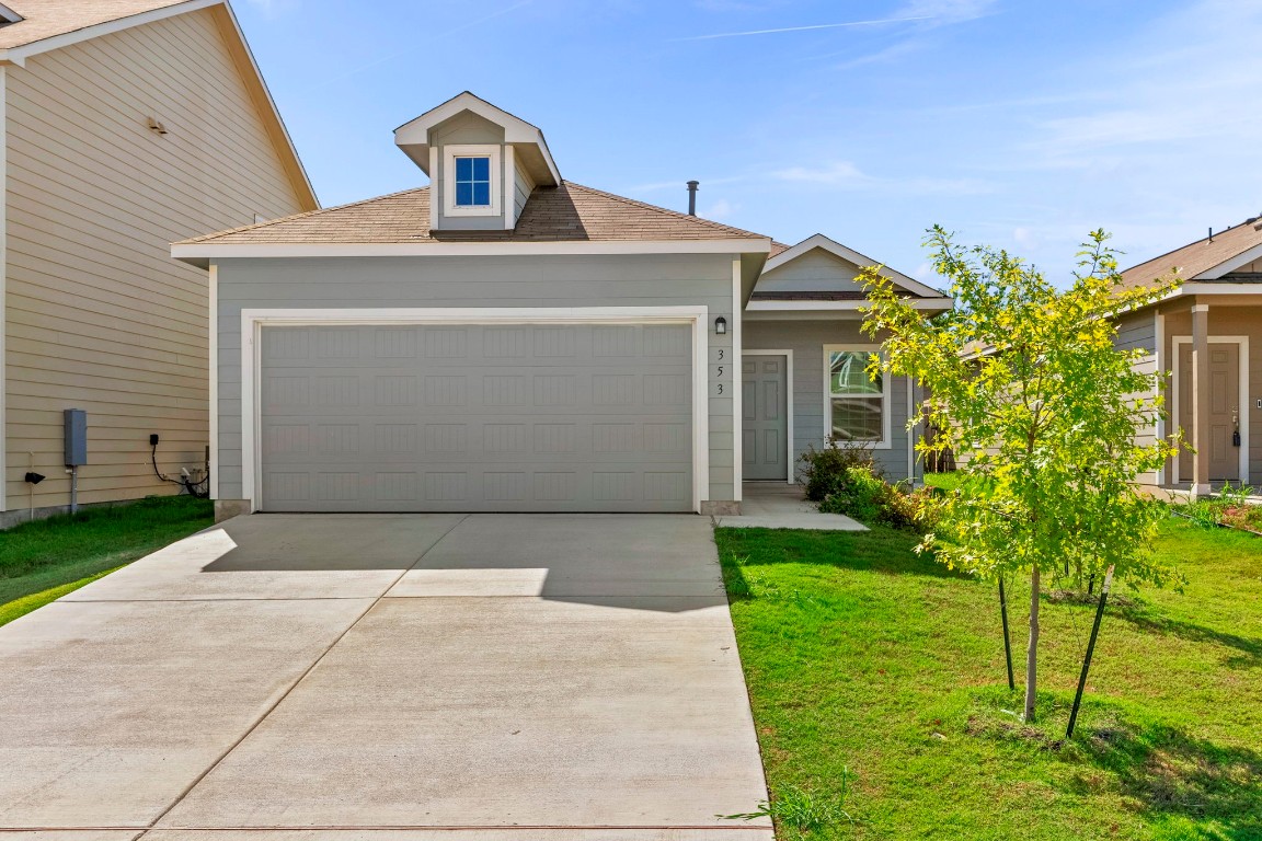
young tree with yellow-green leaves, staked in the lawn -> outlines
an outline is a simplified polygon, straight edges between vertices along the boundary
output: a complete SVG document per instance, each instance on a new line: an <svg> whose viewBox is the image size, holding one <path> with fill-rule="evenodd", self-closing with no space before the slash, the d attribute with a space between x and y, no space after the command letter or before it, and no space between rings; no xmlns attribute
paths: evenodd
<svg viewBox="0 0 1262 841"><path fill-rule="evenodd" d="M919 550L983 579L1030 576L1027 720L1035 717L1045 574L1069 565L1103 577L1116 565L1119 580L1179 580L1151 552L1165 506L1136 484L1179 445L1174 436L1136 438L1164 411L1164 376L1140 368L1141 352L1116 348L1112 320L1177 281L1123 287L1107 240L1103 231L1090 235L1073 285L1058 291L1020 258L959 248L935 227L925 245L957 305L928 322L877 267L861 276L872 301L864 329L885 337L873 367L914 377L931 395L926 420L939 434L920 450L967 454L964 480L941 501L939 523Z"/></svg>

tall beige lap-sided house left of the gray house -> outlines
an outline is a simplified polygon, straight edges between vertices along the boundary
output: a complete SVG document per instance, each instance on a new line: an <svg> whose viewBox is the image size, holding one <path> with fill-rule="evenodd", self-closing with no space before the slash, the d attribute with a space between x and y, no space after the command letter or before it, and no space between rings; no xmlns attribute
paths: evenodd
<svg viewBox="0 0 1262 841"><path fill-rule="evenodd" d="M318 207L223 1L0 6L0 525L69 502L63 410L88 421L78 501L204 470L206 272L169 243ZM28 472L47 477L24 480Z"/></svg>

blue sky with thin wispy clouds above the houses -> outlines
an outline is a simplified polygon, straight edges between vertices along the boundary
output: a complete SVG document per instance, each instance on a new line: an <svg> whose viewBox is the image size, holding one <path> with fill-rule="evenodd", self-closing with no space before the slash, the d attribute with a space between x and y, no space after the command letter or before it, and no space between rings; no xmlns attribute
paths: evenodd
<svg viewBox="0 0 1262 841"><path fill-rule="evenodd" d="M425 183L392 130L469 90L562 175L929 279L924 229L1063 280L1262 212L1262 0L236 0L326 206Z"/></svg>

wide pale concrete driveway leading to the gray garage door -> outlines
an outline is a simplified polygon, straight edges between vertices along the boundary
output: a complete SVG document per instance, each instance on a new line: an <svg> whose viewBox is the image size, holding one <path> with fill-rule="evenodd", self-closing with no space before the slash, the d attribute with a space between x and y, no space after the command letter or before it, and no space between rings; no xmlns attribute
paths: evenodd
<svg viewBox="0 0 1262 841"><path fill-rule="evenodd" d="M239 518L0 676L0 841L772 837L702 517Z"/></svg>

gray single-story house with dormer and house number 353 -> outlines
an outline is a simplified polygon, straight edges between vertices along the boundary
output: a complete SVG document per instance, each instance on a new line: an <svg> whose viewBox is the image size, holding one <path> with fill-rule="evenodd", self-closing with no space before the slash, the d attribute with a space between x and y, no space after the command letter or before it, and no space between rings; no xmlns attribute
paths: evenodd
<svg viewBox="0 0 1262 841"><path fill-rule="evenodd" d="M829 425L911 472L906 383L861 372L866 258L565 182L469 93L395 140L430 187L172 248L209 271L221 516L732 512Z"/></svg>

